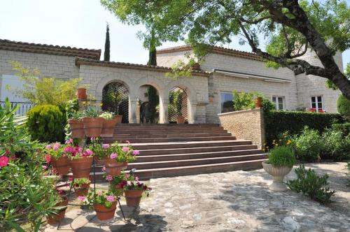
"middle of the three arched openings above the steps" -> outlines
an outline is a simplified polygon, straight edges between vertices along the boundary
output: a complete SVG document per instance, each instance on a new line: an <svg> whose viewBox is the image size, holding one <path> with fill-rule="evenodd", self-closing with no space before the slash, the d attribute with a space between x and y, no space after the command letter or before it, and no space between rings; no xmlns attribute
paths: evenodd
<svg viewBox="0 0 350 232"><path fill-rule="evenodd" d="M140 123L160 122L159 92L152 85L139 87Z"/></svg>

